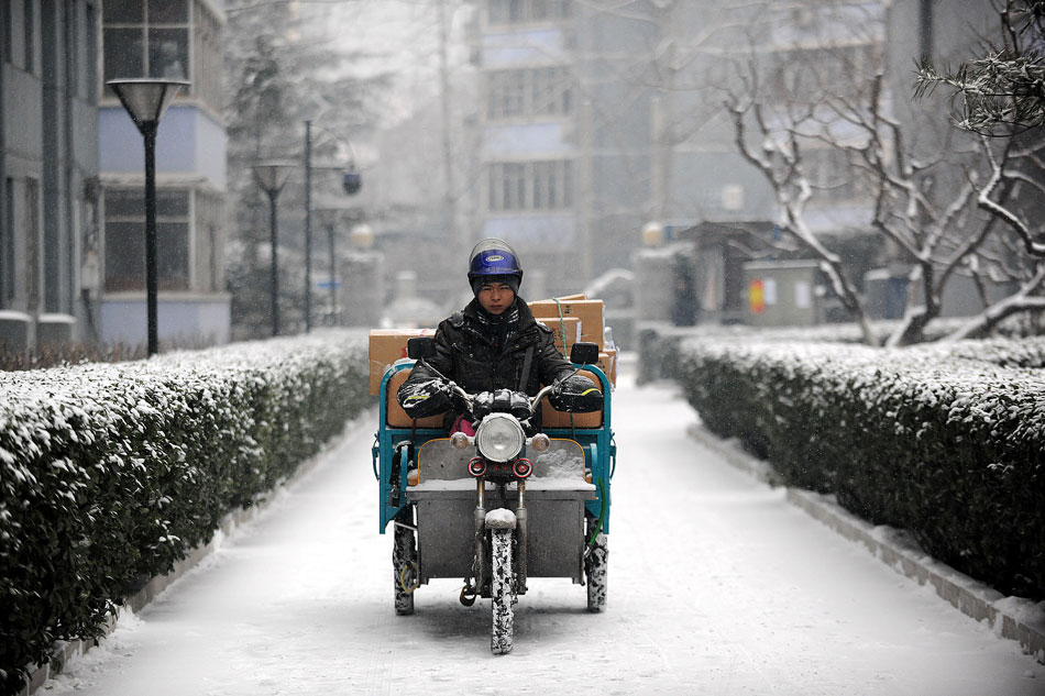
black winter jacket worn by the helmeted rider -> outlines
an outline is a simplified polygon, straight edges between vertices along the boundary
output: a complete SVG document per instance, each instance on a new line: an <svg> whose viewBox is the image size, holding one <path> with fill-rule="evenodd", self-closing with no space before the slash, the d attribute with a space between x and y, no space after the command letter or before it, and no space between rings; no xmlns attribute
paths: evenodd
<svg viewBox="0 0 1045 696"><path fill-rule="evenodd" d="M473 299L464 311L440 322L436 329L436 356L419 362L397 394L408 413L411 409L405 399L416 394L422 383L438 377L429 366L469 394L512 389L534 396L542 384L573 372L572 363L556 349L551 329L538 323L519 297L498 317L483 310L479 300Z"/></svg>

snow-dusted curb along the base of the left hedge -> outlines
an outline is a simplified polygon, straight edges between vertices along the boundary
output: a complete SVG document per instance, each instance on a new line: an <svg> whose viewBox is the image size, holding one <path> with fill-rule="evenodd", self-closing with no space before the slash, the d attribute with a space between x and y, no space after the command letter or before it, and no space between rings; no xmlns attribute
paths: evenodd
<svg viewBox="0 0 1045 696"><path fill-rule="evenodd" d="M355 419L351 420L350 422L355 422ZM153 577L136 593L129 597L124 597L123 604L117 607L116 615L110 616L105 626L101 627L101 633L98 636L98 638L59 641L56 643L54 652L52 653L52 662L38 666L30 673L25 682L25 686L23 686L22 691L18 693L19 696L31 696L34 692L36 692L36 689L43 686L47 680L61 674L63 667L68 663L69 660L75 656L82 655L88 650L98 645L101 641L108 638L116 630L117 623L120 620L120 616L122 616L124 611L130 611L132 615L138 614L143 608L145 608L150 601L158 597L161 593L174 584L175 581L199 565L204 559L211 555L221 546L223 538L230 537L239 527L253 521L262 512L267 510L276 499L279 490L297 482L306 474L311 472L318 464L321 456L327 453L328 449L336 446L339 441L340 437L332 439L319 452L314 454L310 459L306 460L296 469L294 469L294 473L277 483L271 490L262 494L262 497L255 500L251 507L240 508L228 512L223 518L221 518L221 522L219 522L218 529L215 530L215 535L209 542L196 546L188 553L188 555L175 563L174 570L172 570L166 575L157 575Z"/></svg>

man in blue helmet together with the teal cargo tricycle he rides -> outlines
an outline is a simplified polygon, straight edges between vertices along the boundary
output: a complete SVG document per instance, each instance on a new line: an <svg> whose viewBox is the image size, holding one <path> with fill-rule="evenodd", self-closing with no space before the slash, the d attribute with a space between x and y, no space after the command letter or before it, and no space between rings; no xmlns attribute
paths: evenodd
<svg viewBox="0 0 1045 696"><path fill-rule="evenodd" d="M586 584L588 609L605 606L616 462L598 345L562 357L516 294L521 275L503 241L476 245L475 300L384 372L373 448L396 612L431 578L463 578L462 604L491 599L495 653L512 650L530 577Z"/></svg>

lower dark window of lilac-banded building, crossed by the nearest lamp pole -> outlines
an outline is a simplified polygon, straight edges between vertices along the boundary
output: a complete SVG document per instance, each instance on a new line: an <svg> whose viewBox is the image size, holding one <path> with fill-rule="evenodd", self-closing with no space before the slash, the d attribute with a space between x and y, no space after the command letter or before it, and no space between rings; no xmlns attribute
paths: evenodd
<svg viewBox="0 0 1045 696"><path fill-rule="evenodd" d="M145 200L141 189L106 191L106 290L145 289ZM189 192L156 191L161 290L189 289Z"/></svg>

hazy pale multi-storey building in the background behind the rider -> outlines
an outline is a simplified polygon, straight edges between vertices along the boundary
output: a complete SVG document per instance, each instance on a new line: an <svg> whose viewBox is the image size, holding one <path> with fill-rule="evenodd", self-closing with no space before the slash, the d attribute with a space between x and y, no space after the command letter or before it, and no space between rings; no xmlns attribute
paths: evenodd
<svg viewBox="0 0 1045 696"><path fill-rule="evenodd" d="M761 66L809 65L832 52L868 67L884 38L882 3L857 0L481 7L483 176L473 236L519 246L547 269L552 294L629 266L648 222L670 240L704 221L772 220L772 190L737 152L722 80L752 55ZM845 31L839 12L858 29ZM781 100L793 77L776 76ZM851 77L838 69L829 79L845 86ZM853 224L870 201L848 163L822 148L810 164L814 185L829 191L812 211L815 223Z"/></svg>

